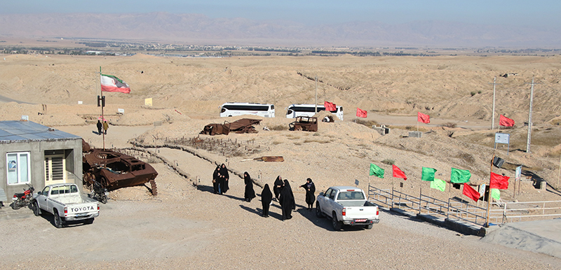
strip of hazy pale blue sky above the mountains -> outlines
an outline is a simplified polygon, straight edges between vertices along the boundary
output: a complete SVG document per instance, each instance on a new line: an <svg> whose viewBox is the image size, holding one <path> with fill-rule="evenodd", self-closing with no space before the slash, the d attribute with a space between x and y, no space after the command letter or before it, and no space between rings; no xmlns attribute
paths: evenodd
<svg viewBox="0 0 561 270"><path fill-rule="evenodd" d="M561 27L559 0L18 0L0 14L198 13L211 18L290 20L303 24L377 21L401 24L439 20L471 24Z"/></svg>

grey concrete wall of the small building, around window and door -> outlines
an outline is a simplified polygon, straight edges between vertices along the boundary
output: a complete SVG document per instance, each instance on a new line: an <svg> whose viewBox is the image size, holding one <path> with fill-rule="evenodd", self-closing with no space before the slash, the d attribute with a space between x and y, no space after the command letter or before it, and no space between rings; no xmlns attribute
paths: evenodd
<svg viewBox="0 0 561 270"><path fill-rule="evenodd" d="M11 197L16 192L23 192L27 185L8 185L6 153L7 152L30 152L31 184L38 192L45 187L45 150L65 150L67 182L76 183L82 190L82 139L68 138L50 141L22 141L0 144L0 187L6 192L8 201L4 205L11 204ZM7 203L7 204L6 204Z"/></svg>

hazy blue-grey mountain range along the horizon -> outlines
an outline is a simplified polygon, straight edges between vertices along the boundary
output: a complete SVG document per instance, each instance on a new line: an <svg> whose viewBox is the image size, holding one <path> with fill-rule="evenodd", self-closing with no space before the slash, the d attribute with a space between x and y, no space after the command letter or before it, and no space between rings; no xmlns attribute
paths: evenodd
<svg viewBox="0 0 561 270"><path fill-rule="evenodd" d="M297 22L209 18L172 13L0 14L0 38L67 37L269 46L428 46L559 48L561 27L509 27L443 21L405 24Z"/></svg>

